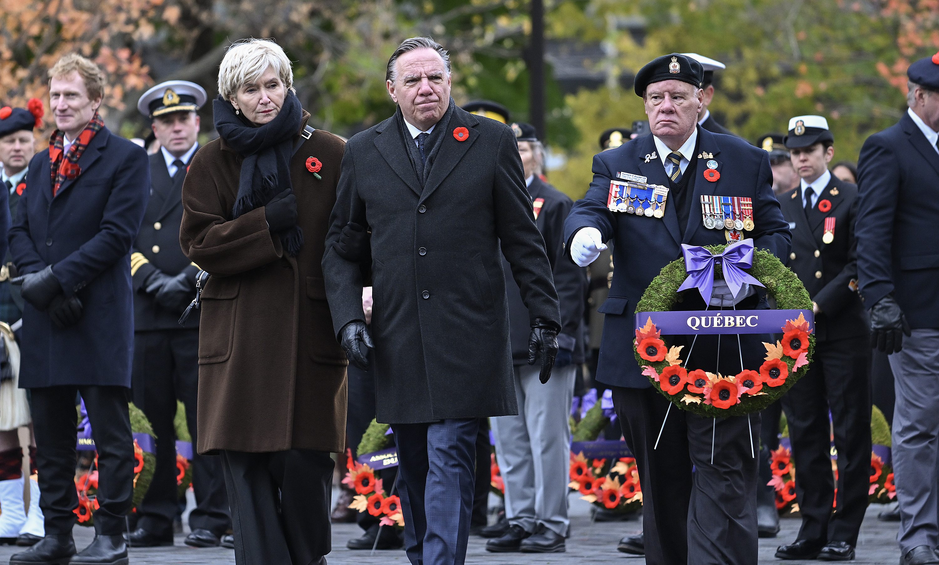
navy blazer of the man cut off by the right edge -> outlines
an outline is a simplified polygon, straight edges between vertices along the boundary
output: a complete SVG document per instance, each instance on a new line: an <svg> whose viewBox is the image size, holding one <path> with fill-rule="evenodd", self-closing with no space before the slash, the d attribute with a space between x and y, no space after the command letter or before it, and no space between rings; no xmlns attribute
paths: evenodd
<svg viewBox="0 0 939 565"><path fill-rule="evenodd" d="M864 305L893 294L911 328L939 328L939 153L909 114L857 162L857 283Z"/></svg>

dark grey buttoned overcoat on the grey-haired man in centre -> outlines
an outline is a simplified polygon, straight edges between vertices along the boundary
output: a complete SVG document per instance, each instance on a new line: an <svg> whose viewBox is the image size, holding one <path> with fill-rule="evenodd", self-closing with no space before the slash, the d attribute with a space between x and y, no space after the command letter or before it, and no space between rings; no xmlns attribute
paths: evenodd
<svg viewBox="0 0 939 565"><path fill-rule="evenodd" d="M500 248L531 320L560 327L515 135L459 108L446 121L423 187L394 116L353 136L343 156L323 275L338 334L364 319L363 281L332 243L347 221L370 226L380 422L517 413ZM457 141L457 128L469 138Z"/></svg>

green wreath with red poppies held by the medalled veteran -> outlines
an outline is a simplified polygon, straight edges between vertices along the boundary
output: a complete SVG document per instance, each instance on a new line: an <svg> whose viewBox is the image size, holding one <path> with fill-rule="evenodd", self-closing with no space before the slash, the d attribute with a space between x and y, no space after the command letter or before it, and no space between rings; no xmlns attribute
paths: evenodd
<svg viewBox="0 0 939 565"><path fill-rule="evenodd" d="M706 249L717 255L726 247L711 245ZM715 280L721 276L720 269L717 264ZM762 283L769 296L776 298L779 310L811 311L812 301L806 287L772 253L755 250L753 267L747 273ZM681 258L662 267L639 299L636 312L669 312L682 300L678 288L687 275L685 260ZM692 288L688 292L698 291ZM669 346L668 338L661 336L651 319L636 329L633 353L642 374L673 404L706 418L743 416L776 402L808 372L815 348L815 336L808 321L800 314L780 330L782 340L763 344L766 355L762 365L739 374L685 370L681 357L684 346Z"/></svg>

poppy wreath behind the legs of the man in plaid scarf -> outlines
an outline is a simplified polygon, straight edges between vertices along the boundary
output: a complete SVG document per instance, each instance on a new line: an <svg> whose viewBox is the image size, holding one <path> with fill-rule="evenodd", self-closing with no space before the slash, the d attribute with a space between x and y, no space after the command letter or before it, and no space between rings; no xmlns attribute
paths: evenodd
<svg viewBox="0 0 939 565"><path fill-rule="evenodd" d="M130 405L131 414L131 432L134 434L153 435L153 427L149 420L146 420L144 412L135 405ZM157 458L153 453L142 450L137 440L133 440L133 495L131 503L133 505L131 512L136 512L137 507L144 501L147 489L150 488L150 482L153 481L153 471L157 466ZM94 513L98 510L98 454L91 466L85 470L79 471L75 475L75 490L78 491L78 508L74 510L78 517L78 523L81 526L94 526Z"/></svg>

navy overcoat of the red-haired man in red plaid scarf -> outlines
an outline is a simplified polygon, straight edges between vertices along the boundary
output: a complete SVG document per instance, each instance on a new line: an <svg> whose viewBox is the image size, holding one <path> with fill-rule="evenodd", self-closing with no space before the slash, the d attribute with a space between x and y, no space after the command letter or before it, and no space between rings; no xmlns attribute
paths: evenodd
<svg viewBox="0 0 939 565"><path fill-rule="evenodd" d="M131 245L150 194L146 151L101 128L78 160L82 173L53 197L49 150L29 163L9 248L20 274L53 266L65 295L85 310L55 328L47 313L23 309L20 387L131 386Z"/></svg>

